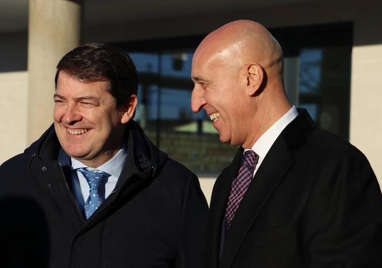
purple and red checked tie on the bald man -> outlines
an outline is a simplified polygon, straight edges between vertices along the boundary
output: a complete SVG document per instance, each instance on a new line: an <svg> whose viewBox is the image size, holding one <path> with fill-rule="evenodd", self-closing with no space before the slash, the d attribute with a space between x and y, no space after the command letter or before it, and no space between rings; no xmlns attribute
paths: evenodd
<svg viewBox="0 0 382 268"><path fill-rule="evenodd" d="M253 171L259 161L259 155L252 151L245 151L241 158L239 174L232 181L231 192L228 197L227 208L225 210L225 232L227 233L231 226L235 212L240 205L241 199L252 181Z"/></svg>

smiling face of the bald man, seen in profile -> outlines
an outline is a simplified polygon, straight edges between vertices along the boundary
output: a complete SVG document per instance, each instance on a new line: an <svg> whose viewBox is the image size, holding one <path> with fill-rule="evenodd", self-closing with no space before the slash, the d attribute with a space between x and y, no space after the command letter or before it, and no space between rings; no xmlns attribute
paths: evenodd
<svg viewBox="0 0 382 268"><path fill-rule="evenodd" d="M204 109L219 132L220 141L241 145L247 135L248 96L240 75L242 68L231 57L209 57L211 53L198 49L193 58L192 110ZM233 61L233 62L232 62Z"/></svg>

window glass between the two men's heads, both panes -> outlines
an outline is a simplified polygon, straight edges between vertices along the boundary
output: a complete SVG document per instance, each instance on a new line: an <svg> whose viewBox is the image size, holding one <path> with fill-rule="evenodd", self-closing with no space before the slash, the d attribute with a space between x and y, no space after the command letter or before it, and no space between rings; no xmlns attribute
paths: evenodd
<svg viewBox="0 0 382 268"><path fill-rule="evenodd" d="M230 164L237 147L222 144L204 111L191 111L193 49L131 52L139 73L135 120L169 157L200 176Z"/></svg>

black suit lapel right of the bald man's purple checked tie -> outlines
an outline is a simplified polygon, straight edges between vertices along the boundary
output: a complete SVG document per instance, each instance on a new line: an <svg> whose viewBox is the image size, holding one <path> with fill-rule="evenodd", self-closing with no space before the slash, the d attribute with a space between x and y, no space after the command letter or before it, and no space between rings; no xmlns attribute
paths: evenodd
<svg viewBox="0 0 382 268"><path fill-rule="evenodd" d="M230 230L225 237L219 267L231 266L245 235L293 162L287 144L279 136L264 158L235 213Z"/></svg>

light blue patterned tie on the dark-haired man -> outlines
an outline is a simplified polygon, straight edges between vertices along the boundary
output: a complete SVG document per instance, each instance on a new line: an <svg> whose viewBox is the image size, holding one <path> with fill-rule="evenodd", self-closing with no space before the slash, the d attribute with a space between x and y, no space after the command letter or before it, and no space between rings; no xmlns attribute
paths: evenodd
<svg viewBox="0 0 382 268"><path fill-rule="evenodd" d="M102 204L103 200L105 200L105 196L100 194L100 188L104 180L110 177L110 174L94 168L80 168L77 169L77 171L84 175L90 187L90 195L85 203L85 217L89 219L94 211Z"/></svg>

